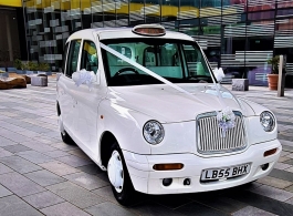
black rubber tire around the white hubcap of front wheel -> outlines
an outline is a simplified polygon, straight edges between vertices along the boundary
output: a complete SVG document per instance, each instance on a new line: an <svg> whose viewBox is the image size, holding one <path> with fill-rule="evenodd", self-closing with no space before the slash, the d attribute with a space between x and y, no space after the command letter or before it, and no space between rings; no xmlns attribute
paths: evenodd
<svg viewBox="0 0 293 216"><path fill-rule="evenodd" d="M117 151L119 153L119 156L122 160L124 182L123 182L123 188L121 192L117 192L116 188L111 184L112 191L113 191L113 194L114 194L116 200L121 205L129 206L129 205L136 203L136 198L137 198L138 193L134 189L132 179L129 177L129 173L128 173L126 164L125 164L125 160L123 157L123 153L122 153L122 151L121 151L121 148L116 142L111 147L111 156L112 156L114 151Z"/></svg>

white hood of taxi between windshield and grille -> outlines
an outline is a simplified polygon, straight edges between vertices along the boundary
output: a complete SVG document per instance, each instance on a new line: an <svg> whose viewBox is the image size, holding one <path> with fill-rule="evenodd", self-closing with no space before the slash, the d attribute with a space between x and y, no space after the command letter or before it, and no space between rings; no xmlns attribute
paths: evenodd
<svg viewBox="0 0 293 216"><path fill-rule="evenodd" d="M108 99L123 107L148 115L161 123L192 121L198 114L221 111L229 106L243 115L254 115L244 101L237 100L227 89L207 83L178 84L190 95L166 84L111 86Z"/></svg>

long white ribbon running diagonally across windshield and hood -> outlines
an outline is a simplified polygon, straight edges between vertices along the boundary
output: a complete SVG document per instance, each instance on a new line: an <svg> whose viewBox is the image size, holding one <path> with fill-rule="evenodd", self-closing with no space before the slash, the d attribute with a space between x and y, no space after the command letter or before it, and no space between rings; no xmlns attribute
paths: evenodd
<svg viewBox="0 0 293 216"><path fill-rule="evenodd" d="M172 82L166 80L165 78L161 78L160 75L158 75L157 73L154 73L154 72L150 71L149 69L143 66L142 64L138 64L137 62L130 60L129 58L127 58L127 56L121 54L121 53L117 52L116 50L114 50L114 49L112 49L112 48L109 48L109 47L107 47L107 45L105 45L104 43L101 43L101 42L100 42L100 45L101 45L101 48L103 48L104 50L106 50L106 51L108 51L109 53L114 54L115 56L122 59L123 61L125 61L125 62L127 62L127 63L129 63L129 64L132 64L133 66L136 66L137 69L144 71L145 73L151 75L153 78L155 78L155 79L161 81L163 83L169 85L170 88L172 88L172 89L175 89L175 90L177 90L177 91L179 91L179 92L185 93L186 95L188 95L188 96L191 97L192 100L197 100L197 101L201 102L202 104L205 104L206 106L210 106L210 105L207 104L205 101L199 100L198 97L196 97L196 96L195 96L193 94L191 94L190 92L188 92L188 91L184 90L182 88L180 88L180 86L174 84Z"/></svg>

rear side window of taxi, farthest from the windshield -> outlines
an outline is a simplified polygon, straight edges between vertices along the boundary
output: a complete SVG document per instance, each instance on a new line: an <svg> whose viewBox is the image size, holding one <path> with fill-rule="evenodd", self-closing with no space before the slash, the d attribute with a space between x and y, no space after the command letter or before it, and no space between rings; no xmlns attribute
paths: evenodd
<svg viewBox="0 0 293 216"><path fill-rule="evenodd" d="M73 72L77 70L79 63L79 53L81 48L82 40L74 40L71 41L70 52L67 56L67 64L66 64L66 76L71 78Z"/></svg>

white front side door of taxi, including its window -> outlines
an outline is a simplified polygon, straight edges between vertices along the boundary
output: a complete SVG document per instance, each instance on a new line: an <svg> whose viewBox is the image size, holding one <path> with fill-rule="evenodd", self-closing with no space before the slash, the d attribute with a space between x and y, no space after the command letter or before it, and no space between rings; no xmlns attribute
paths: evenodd
<svg viewBox="0 0 293 216"><path fill-rule="evenodd" d="M81 51L81 70L93 71L100 80L101 73L98 63L98 54L95 42L91 40L83 40ZM77 134L82 144L86 147L84 151L90 151L90 155L97 156L98 153L98 104L106 95L106 86L98 82L92 83L91 86L81 84L75 86L79 89L76 94L79 114L76 120L79 122Z"/></svg>

